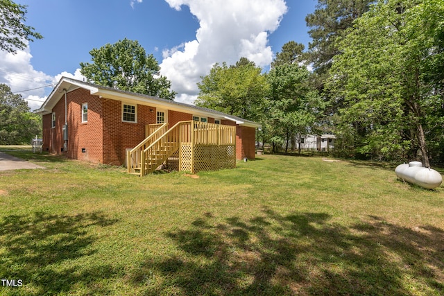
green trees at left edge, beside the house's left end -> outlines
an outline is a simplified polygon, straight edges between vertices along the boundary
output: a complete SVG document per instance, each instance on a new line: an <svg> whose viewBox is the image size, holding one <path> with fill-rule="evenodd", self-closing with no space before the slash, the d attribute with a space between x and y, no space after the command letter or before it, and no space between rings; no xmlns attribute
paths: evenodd
<svg viewBox="0 0 444 296"><path fill-rule="evenodd" d="M12 94L8 85L0 85L0 144L29 143L42 134L42 119L33 114L19 94Z"/></svg>

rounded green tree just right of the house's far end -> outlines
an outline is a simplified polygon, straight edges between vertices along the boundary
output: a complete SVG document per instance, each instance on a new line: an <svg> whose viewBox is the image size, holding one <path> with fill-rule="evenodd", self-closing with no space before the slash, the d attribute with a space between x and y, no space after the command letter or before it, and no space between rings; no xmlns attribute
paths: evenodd
<svg viewBox="0 0 444 296"><path fill-rule="evenodd" d="M266 127L273 151L285 143L287 152L291 139L316 130L325 104L318 92L309 87L309 78L309 71L298 64L282 64L268 73L270 93Z"/></svg>

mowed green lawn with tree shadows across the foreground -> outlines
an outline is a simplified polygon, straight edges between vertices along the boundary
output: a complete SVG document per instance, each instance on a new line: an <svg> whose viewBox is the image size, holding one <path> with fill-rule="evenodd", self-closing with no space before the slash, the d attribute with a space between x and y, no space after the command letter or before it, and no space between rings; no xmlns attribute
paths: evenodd
<svg viewBox="0 0 444 296"><path fill-rule="evenodd" d="M0 295L443 295L444 187L394 166L262 155L127 175L1 147ZM443 173L443 171L441 171Z"/></svg>

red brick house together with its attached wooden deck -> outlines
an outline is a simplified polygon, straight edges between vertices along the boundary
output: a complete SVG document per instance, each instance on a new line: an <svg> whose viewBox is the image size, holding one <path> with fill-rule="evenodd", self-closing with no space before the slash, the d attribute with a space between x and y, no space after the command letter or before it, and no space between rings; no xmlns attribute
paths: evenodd
<svg viewBox="0 0 444 296"><path fill-rule="evenodd" d="M254 159L260 126L215 110L65 77L35 112L42 114L42 150L102 164L129 164L128 172L139 175L168 160L180 171L196 172Z"/></svg>

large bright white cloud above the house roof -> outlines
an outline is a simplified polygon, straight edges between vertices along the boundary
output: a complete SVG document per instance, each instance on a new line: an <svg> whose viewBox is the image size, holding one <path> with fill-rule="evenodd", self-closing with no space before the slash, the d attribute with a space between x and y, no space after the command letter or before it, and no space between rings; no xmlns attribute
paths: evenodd
<svg viewBox="0 0 444 296"><path fill-rule="evenodd" d="M195 98L200 76L207 75L216 62L234 64L246 57L267 67L273 60L268 33L278 28L287 12L284 0L165 1L176 10L189 6L200 25L196 40L163 52L161 73L178 92L177 101Z"/></svg>

